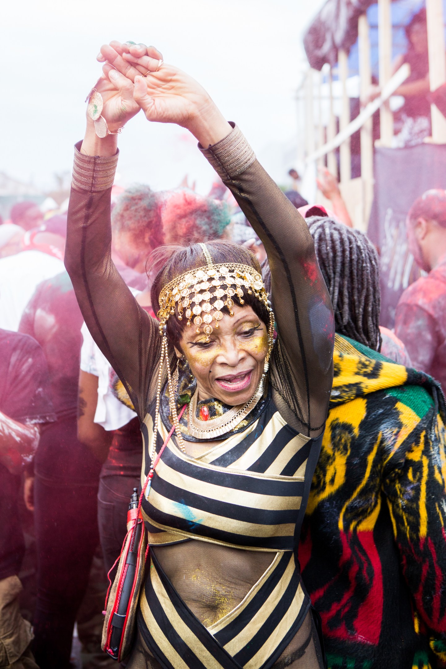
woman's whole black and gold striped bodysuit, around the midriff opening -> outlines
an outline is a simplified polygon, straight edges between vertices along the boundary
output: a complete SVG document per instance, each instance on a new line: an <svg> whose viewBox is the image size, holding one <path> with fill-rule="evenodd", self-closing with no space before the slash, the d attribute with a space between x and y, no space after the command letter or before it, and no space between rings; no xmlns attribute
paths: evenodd
<svg viewBox="0 0 446 669"><path fill-rule="evenodd" d="M160 425L157 451L167 432ZM147 473L154 439L153 411L144 420L142 435ZM169 442L142 504L149 544L199 540L268 551L271 562L239 605L205 626L179 597L156 551L150 551L138 630L160 666L179 666L181 655L181 666L190 669L267 668L296 636L308 615L310 600L294 549L319 448L320 438L306 438L290 427L271 399L244 432L199 458L186 456ZM312 628L305 642L316 642L317 648ZM299 650L303 655L307 649L300 646ZM317 655L312 647L310 652ZM130 660L129 666L140 665Z"/></svg>

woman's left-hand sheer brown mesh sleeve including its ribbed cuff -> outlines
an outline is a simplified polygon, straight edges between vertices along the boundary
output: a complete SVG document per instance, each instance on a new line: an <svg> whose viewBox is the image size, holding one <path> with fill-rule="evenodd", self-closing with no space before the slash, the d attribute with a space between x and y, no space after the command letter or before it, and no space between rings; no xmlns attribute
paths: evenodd
<svg viewBox="0 0 446 669"><path fill-rule="evenodd" d="M65 266L88 330L144 419L156 375L157 321L136 302L111 258L110 194L118 155L84 156L76 145Z"/></svg>

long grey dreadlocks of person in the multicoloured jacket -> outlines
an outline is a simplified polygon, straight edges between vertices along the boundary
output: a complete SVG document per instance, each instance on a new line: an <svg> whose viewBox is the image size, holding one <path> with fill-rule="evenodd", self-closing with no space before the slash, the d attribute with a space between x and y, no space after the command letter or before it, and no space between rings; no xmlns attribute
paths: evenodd
<svg viewBox="0 0 446 669"><path fill-rule="evenodd" d="M329 217L306 219L332 300L336 332L379 351L378 254L359 230Z"/></svg>

